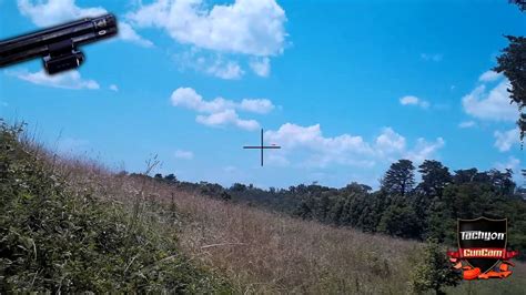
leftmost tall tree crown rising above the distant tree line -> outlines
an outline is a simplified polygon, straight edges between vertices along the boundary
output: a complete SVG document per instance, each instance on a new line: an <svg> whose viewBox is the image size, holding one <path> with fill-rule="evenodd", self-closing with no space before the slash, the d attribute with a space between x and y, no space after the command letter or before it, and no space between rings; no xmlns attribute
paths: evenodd
<svg viewBox="0 0 526 295"><path fill-rule="evenodd" d="M409 160L398 160L391 164L382 180L382 190L391 194L406 195L415 185L415 166Z"/></svg>

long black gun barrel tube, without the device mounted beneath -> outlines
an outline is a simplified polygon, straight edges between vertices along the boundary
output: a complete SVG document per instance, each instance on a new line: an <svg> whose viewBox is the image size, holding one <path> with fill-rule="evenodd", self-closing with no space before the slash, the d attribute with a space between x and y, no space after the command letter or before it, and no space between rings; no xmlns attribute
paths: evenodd
<svg viewBox="0 0 526 295"><path fill-rule="evenodd" d="M53 52L58 48L67 49L70 44L71 50L74 50L78 45L113 37L117 32L115 17L104 14L0 41L0 67L39 57L52 57L60 53Z"/></svg>

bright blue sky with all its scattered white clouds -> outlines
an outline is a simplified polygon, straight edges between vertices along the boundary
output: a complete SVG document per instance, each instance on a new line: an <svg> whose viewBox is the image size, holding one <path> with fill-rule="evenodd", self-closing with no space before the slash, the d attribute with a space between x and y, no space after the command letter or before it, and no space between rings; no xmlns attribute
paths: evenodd
<svg viewBox="0 0 526 295"><path fill-rule="evenodd" d="M507 1L0 0L0 38L111 11L120 35L79 71L0 73L0 114L60 153L181 180L286 187L377 181L398 159L452 170L526 159L507 81L489 71L526 34ZM259 166L255 151L266 143ZM517 177L519 180L519 177ZM522 182L522 181L520 181Z"/></svg>

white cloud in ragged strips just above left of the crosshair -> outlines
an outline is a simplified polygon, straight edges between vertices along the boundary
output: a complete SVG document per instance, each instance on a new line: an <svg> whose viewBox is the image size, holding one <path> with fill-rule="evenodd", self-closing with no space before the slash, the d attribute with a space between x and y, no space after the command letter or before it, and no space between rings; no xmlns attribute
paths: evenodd
<svg viewBox="0 0 526 295"><path fill-rule="evenodd" d="M255 130L260 124L255 120L240 119L236 110L252 113L267 113L274 105L266 99L244 99L236 103L223 98L206 101L192 88L179 88L171 96L173 106L196 111L196 122L209 126L235 125L244 130Z"/></svg>

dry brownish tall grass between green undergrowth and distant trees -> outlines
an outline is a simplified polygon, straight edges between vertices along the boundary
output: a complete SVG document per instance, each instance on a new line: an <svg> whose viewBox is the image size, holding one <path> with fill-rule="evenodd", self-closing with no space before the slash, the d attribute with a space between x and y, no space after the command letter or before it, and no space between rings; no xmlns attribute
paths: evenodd
<svg viewBox="0 0 526 295"><path fill-rule="evenodd" d="M72 190L129 205L159 231L180 231L186 254L227 276L240 294L404 294L421 255L417 242L225 203L156 181L117 175L83 159L47 156ZM180 215L166 217L173 206ZM515 269L504 284L509 288L499 287L499 282L477 282L448 291L514 293L526 285L526 267L518 264Z"/></svg>

